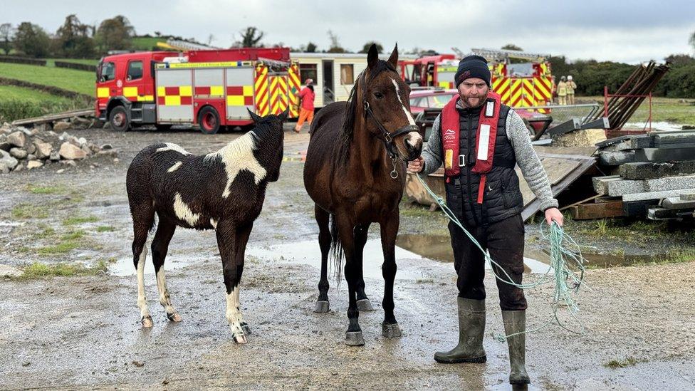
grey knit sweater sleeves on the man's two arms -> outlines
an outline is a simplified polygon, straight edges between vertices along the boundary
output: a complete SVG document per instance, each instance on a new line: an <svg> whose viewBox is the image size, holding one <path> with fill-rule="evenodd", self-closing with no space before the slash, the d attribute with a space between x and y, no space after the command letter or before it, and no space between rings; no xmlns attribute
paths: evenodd
<svg viewBox="0 0 695 391"><path fill-rule="evenodd" d="M432 135L429 136L429 141L422 150L424 159L422 174L432 174L432 172L437 171L441 167L440 122L441 114L434 120ZM558 207L558 200L553 198L553 192L550 190L548 175L545 174L543 165L540 164L540 159L538 159L538 155L535 154L533 145L531 145L528 129L514 110L509 110L505 129L507 138L514 150L514 155L516 155L516 164L521 168L523 179L526 179L528 187L531 188L535 197L538 197L540 200L540 210Z"/></svg>

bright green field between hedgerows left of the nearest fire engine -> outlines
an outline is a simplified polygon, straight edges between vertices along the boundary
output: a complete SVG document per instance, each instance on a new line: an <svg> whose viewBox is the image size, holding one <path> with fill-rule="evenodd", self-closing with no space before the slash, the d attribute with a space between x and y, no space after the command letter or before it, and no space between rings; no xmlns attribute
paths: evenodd
<svg viewBox="0 0 695 391"><path fill-rule="evenodd" d="M46 66L0 63L0 76L24 80L30 83L52 85L53 87L75 91L76 93L94 95L95 75L91 72Z"/></svg>

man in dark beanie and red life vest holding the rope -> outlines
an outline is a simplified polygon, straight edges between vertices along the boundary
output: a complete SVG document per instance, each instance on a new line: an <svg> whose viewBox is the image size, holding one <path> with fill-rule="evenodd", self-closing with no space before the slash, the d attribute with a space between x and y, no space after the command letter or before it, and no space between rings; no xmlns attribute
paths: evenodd
<svg viewBox="0 0 695 391"><path fill-rule="evenodd" d="M504 271L521 283L523 273L523 200L514 167L540 200L545 219L563 224L558 202L553 199L543 165L531 146L523 120L499 95L490 91L490 71L484 58L468 56L454 76L459 95L444 107L434 121L432 136L422 157L409 162L410 172L429 174L444 162L446 204L461 224ZM484 363L485 259L459 226L449 223L454 267L459 288L459 344L437 352L438 363ZM505 273L506 272L506 273ZM528 384L525 350L526 298L520 288L497 281L500 307L509 347L511 384Z"/></svg>

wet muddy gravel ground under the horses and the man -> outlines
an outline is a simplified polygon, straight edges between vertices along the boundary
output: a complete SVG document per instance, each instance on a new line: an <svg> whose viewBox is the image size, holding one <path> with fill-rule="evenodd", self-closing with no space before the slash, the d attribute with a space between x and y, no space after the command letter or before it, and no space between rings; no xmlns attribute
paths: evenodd
<svg viewBox="0 0 695 391"><path fill-rule="evenodd" d="M169 248L169 291L184 321L166 320L157 303L155 276L148 273L155 327L142 330L130 256L127 165L138 150L154 142L176 142L190 152L205 153L239 134L69 132L97 145L112 144L119 161L94 161L92 167L82 162L75 168L48 165L0 176L0 264L70 261L106 264L108 273L0 281L0 388L508 389L506 344L492 336L503 328L490 273L484 365L432 360L434 350L450 348L457 338L454 270L449 263L410 251L397 253L395 303L402 338L386 340L380 333L382 256L376 242L367 245L365 254L367 294L376 310L360 314L366 345L349 348L343 343L345 283L332 281L329 313L313 313L318 229L298 159L308 135L289 131L288 161L280 181L268 187L247 251L241 302L253 330L249 343L235 345L231 340L211 231L179 229ZM56 173L61 168L67 170ZM409 245L414 239L408 238L434 233L441 246L443 222L437 214L404 206L399 242L426 253L434 239ZM377 239L375 228L372 239ZM576 232L600 245L601 227L597 229L580 226ZM528 246L538 252L543 244L537 231L535 224L527 226ZM664 234L660 243L669 248L690 243L691 236L678 235ZM623 253L649 247L629 237L621 240L617 243ZM586 332L573 335L553 325L527 338L532 388L692 390L693 266L679 262L588 271L587 287L578 294ZM538 274L525 278L534 281ZM551 293L550 286L527 292L530 328L548 320Z"/></svg>

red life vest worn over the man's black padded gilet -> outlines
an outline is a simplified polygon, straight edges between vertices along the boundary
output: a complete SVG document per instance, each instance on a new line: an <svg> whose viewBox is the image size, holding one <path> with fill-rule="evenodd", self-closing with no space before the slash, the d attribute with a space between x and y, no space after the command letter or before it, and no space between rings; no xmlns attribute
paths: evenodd
<svg viewBox="0 0 695 391"><path fill-rule="evenodd" d="M446 103L441 110L441 145L444 149L444 174L446 182L451 177L456 177L461 172L460 166L466 165L466 157L459 155L459 135L461 132L459 112L456 111L456 103L459 95ZM476 164L473 172L480 174L478 187L478 203L483 203L485 193L486 174L492 170L492 159L495 155L495 141L497 139L497 122L499 122L500 95L488 92L488 97L480 111L478 130L476 132ZM454 158L456 157L456 158Z"/></svg>

